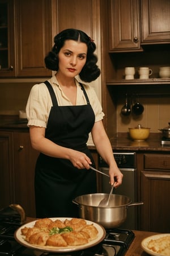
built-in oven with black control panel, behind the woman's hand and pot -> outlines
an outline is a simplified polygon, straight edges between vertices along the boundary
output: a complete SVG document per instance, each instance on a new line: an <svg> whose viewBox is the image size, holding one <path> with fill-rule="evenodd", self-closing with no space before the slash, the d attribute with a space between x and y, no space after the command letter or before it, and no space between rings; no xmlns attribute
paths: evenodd
<svg viewBox="0 0 170 256"><path fill-rule="evenodd" d="M135 152L114 152L114 159L117 166L124 175L122 184L113 190L113 193L117 195L124 195L130 197L132 203L137 199L137 169L136 169L136 153ZM109 168L107 163L100 157L99 158L100 171L108 174ZM101 192L109 193L110 185L108 177L102 175L101 177ZM123 229L137 229L137 209L135 207L129 207L127 211L127 218L124 224L120 226Z"/></svg>

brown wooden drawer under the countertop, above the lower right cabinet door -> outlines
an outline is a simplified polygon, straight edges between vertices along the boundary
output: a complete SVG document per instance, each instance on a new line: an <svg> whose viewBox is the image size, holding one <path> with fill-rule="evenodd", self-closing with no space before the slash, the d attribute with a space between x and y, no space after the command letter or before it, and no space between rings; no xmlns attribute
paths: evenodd
<svg viewBox="0 0 170 256"><path fill-rule="evenodd" d="M145 154L144 155L144 168L156 170L169 170L170 171L170 154Z"/></svg>

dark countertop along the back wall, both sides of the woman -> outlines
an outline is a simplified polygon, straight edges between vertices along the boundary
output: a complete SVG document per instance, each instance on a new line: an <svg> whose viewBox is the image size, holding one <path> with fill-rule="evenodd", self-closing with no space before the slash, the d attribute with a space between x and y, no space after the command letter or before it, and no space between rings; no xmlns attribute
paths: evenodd
<svg viewBox="0 0 170 256"><path fill-rule="evenodd" d="M29 130L27 119L2 119L0 118L1 130ZM111 138L112 149L114 151L162 151L170 152L170 144L161 144L162 133L150 133L146 141L132 141L128 133L117 133ZM91 150L95 150L93 144L88 144Z"/></svg>

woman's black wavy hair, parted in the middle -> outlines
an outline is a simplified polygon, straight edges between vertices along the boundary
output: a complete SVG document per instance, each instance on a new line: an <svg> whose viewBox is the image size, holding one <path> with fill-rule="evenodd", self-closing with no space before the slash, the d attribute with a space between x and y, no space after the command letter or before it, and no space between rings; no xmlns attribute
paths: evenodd
<svg viewBox="0 0 170 256"><path fill-rule="evenodd" d="M97 67L97 56L94 54L96 44L94 41L83 31L74 28L68 28L59 32L54 37L54 46L52 51L46 55L44 61L46 68L52 71L58 71L58 53L63 47L65 40L80 41L87 45L87 59L86 64L79 73L79 77L84 82L91 82L100 76L100 69Z"/></svg>

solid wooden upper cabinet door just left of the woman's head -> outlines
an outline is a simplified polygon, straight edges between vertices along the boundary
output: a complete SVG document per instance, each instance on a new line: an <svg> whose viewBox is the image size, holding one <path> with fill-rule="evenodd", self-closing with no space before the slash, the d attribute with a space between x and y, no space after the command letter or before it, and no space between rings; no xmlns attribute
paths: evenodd
<svg viewBox="0 0 170 256"><path fill-rule="evenodd" d="M53 45L52 6L49 0L16 0L18 77L51 76L44 57Z"/></svg>

